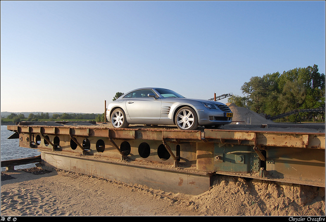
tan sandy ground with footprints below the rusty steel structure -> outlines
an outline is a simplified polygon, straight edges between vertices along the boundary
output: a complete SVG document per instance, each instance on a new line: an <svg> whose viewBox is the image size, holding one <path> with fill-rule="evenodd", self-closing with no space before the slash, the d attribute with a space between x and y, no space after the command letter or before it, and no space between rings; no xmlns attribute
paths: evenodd
<svg viewBox="0 0 326 222"><path fill-rule="evenodd" d="M41 169L40 169L41 170ZM325 189L219 176L193 196L63 170L16 170L2 181L2 216L325 215Z"/></svg>

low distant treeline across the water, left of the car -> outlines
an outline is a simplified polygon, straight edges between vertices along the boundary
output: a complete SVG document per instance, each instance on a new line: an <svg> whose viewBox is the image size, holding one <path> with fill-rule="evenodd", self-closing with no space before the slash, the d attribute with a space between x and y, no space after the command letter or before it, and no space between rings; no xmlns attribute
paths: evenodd
<svg viewBox="0 0 326 222"><path fill-rule="evenodd" d="M46 120L92 120L101 122L104 121L104 113L62 113L57 114L54 113L51 116L49 113L30 113L28 117L25 117L24 114L19 113L11 113L6 118L2 118L1 121L12 121L12 122L20 122L20 121L46 121Z"/></svg>

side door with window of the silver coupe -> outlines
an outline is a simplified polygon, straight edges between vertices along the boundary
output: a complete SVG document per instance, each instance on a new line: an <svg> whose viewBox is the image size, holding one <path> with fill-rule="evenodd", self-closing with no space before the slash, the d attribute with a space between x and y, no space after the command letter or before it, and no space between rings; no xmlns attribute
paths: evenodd
<svg viewBox="0 0 326 222"><path fill-rule="evenodd" d="M161 114L161 99L148 97L148 93L154 93L151 89L133 91L131 97L126 100L126 108L131 120L159 120ZM147 123L147 122L144 122Z"/></svg>

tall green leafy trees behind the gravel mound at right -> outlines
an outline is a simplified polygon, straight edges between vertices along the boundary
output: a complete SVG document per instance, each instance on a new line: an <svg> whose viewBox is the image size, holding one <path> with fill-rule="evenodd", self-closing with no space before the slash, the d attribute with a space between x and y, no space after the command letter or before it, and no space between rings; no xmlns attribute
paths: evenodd
<svg viewBox="0 0 326 222"><path fill-rule="evenodd" d="M318 72L318 66L296 68L262 77L251 77L241 86L246 96L232 96L229 103L246 107L256 113L270 116L295 109L325 107L325 75ZM324 118L324 113L304 113L306 118ZM293 116L290 118L294 118Z"/></svg>

